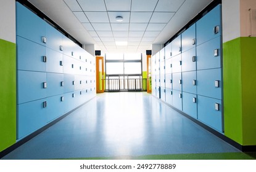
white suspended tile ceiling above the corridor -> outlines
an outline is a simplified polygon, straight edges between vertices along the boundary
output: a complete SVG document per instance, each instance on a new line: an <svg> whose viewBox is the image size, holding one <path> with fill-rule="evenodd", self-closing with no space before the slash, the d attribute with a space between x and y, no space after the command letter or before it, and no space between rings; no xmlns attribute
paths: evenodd
<svg viewBox="0 0 256 172"><path fill-rule="evenodd" d="M164 44L212 0L28 0L102 53L145 53ZM122 16L117 22L115 17ZM118 45L124 43L126 45Z"/></svg>

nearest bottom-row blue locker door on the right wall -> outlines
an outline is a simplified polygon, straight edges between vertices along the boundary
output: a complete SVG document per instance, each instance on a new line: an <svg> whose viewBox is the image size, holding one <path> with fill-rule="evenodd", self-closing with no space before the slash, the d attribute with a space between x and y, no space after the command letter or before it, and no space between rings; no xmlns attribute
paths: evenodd
<svg viewBox="0 0 256 172"><path fill-rule="evenodd" d="M223 132L221 101L205 96L197 96L198 119L215 130Z"/></svg>

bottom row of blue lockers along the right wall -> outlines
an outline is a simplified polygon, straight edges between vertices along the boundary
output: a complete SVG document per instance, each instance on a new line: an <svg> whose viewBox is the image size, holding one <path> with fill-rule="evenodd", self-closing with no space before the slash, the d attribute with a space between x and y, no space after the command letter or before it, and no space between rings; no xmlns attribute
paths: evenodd
<svg viewBox="0 0 256 172"><path fill-rule="evenodd" d="M221 100L163 87L154 87L152 92L171 106L223 132Z"/></svg>

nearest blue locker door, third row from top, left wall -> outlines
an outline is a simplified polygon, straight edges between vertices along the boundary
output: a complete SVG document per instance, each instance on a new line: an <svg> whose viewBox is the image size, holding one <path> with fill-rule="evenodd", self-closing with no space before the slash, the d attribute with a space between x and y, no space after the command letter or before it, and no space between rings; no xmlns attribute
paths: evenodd
<svg viewBox="0 0 256 172"><path fill-rule="evenodd" d="M18 104L46 98L46 72L18 71Z"/></svg>

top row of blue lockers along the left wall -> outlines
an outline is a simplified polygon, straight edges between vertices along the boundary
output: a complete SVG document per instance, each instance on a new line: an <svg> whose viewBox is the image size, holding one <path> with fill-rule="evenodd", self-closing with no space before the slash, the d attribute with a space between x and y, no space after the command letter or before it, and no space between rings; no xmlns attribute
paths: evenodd
<svg viewBox="0 0 256 172"><path fill-rule="evenodd" d="M19 2L16 2L16 6L17 36L25 37L30 41L36 42L36 44L43 45L84 62L90 56L88 52L77 46L75 42L57 31L57 29L22 6Z"/></svg>

